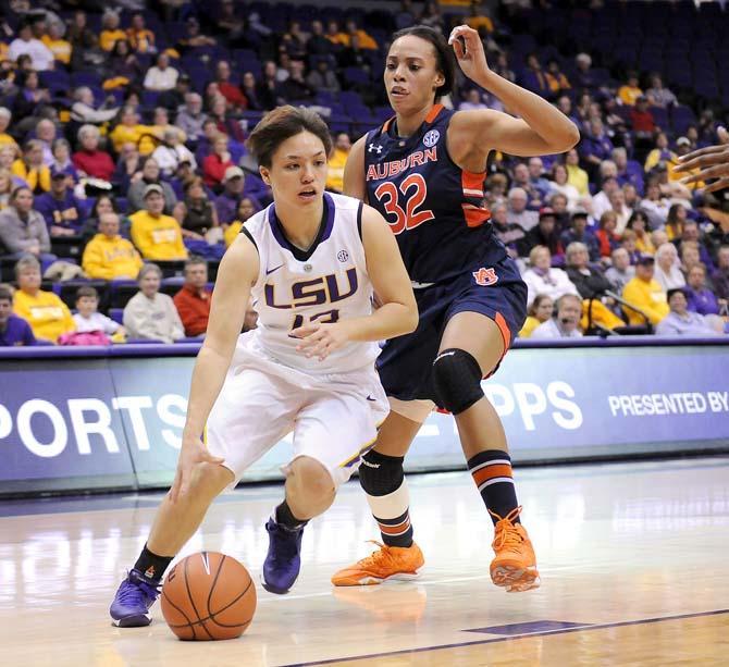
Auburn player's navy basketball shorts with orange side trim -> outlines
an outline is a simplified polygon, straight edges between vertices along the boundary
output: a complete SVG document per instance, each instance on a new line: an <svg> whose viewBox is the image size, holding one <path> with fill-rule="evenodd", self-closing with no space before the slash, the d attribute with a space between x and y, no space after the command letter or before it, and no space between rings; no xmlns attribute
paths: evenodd
<svg viewBox="0 0 729 667"><path fill-rule="evenodd" d="M431 369L445 326L455 314L478 312L493 320L504 337L505 353L527 318L527 285L508 257L445 283L416 288L415 295L420 312L418 329L387 341L378 358L380 380L396 412L404 412L396 407L403 402L434 399Z"/></svg>

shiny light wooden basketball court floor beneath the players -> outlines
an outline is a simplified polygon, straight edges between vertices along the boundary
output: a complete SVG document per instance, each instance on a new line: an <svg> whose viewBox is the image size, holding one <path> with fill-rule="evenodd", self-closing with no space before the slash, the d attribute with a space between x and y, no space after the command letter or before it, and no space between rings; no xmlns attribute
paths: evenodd
<svg viewBox="0 0 729 667"><path fill-rule="evenodd" d="M159 604L111 626L114 591L160 494L0 502L0 664L728 665L729 458L516 471L542 588L492 585L491 523L466 472L411 475L420 579L334 590L376 535L349 483L304 536L286 596L258 586L237 640L182 642ZM183 555L222 551L258 579L281 486L220 498Z"/></svg>

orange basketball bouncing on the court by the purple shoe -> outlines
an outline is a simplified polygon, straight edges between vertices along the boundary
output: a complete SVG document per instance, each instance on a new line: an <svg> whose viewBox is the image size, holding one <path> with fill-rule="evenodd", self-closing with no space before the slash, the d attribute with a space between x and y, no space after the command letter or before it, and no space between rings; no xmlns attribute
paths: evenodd
<svg viewBox="0 0 729 667"><path fill-rule="evenodd" d="M200 552L168 572L161 604L164 620L180 639L235 639L256 613L256 586L235 558Z"/></svg>

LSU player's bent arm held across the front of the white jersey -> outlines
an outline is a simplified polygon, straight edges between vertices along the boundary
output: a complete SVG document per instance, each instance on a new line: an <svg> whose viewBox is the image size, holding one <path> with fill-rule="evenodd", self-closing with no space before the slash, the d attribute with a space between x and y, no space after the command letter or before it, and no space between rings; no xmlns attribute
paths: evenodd
<svg viewBox="0 0 729 667"><path fill-rule="evenodd" d="M349 342L385 341L418 326L418 306L395 236L385 219L367 205L362 210L362 245L367 273L382 306L363 318L295 329L292 334L301 338L298 349L308 357L325 359Z"/></svg>

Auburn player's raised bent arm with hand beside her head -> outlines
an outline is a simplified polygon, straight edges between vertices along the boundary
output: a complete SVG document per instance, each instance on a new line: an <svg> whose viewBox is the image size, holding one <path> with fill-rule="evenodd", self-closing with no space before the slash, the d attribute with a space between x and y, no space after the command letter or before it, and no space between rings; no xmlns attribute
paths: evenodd
<svg viewBox="0 0 729 667"><path fill-rule="evenodd" d="M580 132L564 113L539 95L503 78L489 67L479 34L467 25L453 29L448 44L464 74L496 96L520 115L499 111L459 111L450 122L448 146L454 159L474 159L473 149L485 161L491 150L512 156L543 156L566 152L580 140Z"/></svg>

